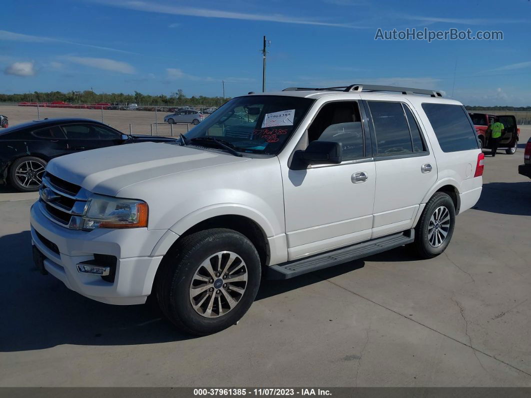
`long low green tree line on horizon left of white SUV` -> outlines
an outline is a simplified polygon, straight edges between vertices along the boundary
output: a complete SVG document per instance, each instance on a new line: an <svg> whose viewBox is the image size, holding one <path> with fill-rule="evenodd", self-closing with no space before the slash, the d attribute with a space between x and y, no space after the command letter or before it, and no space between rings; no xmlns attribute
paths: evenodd
<svg viewBox="0 0 531 398"><path fill-rule="evenodd" d="M91 90L85 91L34 91L23 94L0 94L0 102L38 102L52 103L53 101L64 101L68 104L98 104L98 103L127 103L139 106L220 106L230 98L192 96L186 97L183 90L177 90L169 96L142 94L135 91L134 94L124 94L123 92L113 92L111 94L97 94Z"/></svg>

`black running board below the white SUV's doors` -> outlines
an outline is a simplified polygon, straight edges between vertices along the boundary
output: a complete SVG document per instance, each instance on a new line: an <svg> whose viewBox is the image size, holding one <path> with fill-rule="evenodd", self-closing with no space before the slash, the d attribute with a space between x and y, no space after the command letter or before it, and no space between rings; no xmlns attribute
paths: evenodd
<svg viewBox="0 0 531 398"><path fill-rule="evenodd" d="M376 238L370 241L356 243L354 245L320 253L301 260L284 262L283 264L272 265L267 268L265 277L267 279L289 279L294 276L306 274L318 269L332 267L347 261L358 258L369 257L382 251L397 248L415 240L415 230Z"/></svg>

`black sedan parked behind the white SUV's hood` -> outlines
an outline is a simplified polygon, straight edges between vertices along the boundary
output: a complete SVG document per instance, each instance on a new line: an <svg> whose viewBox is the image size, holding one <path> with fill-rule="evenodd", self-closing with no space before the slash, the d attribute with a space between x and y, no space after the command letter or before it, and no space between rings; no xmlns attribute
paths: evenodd
<svg viewBox="0 0 531 398"><path fill-rule="evenodd" d="M127 135L90 119L45 119L0 131L0 182L21 192L37 191L50 159L79 151L171 137Z"/></svg>

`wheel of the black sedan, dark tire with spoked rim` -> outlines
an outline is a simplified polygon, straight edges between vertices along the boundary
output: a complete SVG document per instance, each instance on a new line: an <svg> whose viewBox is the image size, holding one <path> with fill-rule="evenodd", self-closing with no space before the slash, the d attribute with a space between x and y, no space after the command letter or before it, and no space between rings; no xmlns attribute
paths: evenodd
<svg viewBox="0 0 531 398"><path fill-rule="evenodd" d="M13 188L20 192L35 192L42 184L46 162L35 156L16 159L10 167L9 179Z"/></svg>

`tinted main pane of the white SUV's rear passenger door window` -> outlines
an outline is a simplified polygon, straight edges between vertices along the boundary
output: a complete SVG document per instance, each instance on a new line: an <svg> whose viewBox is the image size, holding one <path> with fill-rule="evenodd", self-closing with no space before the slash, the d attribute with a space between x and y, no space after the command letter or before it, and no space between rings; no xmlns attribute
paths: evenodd
<svg viewBox="0 0 531 398"><path fill-rule="evenodd" d="M402 104L369 101L369 108L374 123L378 155L393 156L412 153L411 136Z"/></svg>

